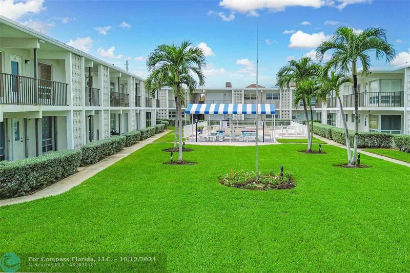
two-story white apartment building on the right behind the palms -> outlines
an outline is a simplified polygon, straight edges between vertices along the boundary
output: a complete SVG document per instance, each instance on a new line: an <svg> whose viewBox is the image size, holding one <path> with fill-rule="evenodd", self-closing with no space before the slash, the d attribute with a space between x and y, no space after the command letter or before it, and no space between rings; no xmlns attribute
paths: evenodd
<svg viewBox="0 0 410 273"><path fill-rule="evenodd" d="M359 130L365 132L410 133L410 64L386 70L371 70L367 77L358 72ZM335 96L321 109L322 123L343 127L343 119L354 130L355 98L353 84L345 84L340 93L345 115L340 115Z"/></svg>

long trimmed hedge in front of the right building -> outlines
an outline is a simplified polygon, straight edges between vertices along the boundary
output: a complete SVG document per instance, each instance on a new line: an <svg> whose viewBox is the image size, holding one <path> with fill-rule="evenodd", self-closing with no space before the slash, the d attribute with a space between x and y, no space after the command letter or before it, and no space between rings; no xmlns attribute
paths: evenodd
<svg viewBox="0 0 410 273"><path fill-rule="evenodd" d="M325 137L327 139L333 139L337 143L346 144L346 138L344 136L344 129L337 128L332 125L321 124L315 122L313 125L313 133ZM353 147L355 132L349 130L350 145ZM376 132L359 132L357 147L358 148L392 148L393 135L387 133Z"/></svg>

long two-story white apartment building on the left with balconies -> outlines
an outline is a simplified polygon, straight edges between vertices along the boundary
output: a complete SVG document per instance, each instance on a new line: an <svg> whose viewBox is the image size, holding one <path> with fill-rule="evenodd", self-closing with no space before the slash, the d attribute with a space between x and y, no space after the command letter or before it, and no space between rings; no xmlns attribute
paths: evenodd
<svg viewBox="0 0 410 273"><path fill-rule="evenodd" d="M0 16L0 160L154 125L144 79Z"/></svg>

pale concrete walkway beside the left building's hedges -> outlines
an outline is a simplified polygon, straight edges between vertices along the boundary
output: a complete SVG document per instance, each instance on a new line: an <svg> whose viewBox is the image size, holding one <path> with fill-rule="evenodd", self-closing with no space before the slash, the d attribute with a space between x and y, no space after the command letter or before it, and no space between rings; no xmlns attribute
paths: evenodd
<svg viewBox="0 0 410 273"><path fill-rule="evenodd" d="M32 195L26 195L26 196L20 196L20 197L15 197L15 198L10 198L10 199L5 199L5 200L0 200L0 206L5 206L5 205L11 205L11 204L17 204L17 203L23 203L23 202L28 202L28 201L32 201L35 199L40 199L43 197L47 197L47 196L53 196L53 195L58 195L64 192L67 192L68 190L70 190L70 188L79 185L81 183L83 183L84 181L86 181L87 179L89 179L90 177L92 177L93 175L99 173L100 171L103 171L104 169L106 169L108 166L114 164L115 162L119 161L122 158L125 158L129 155L131 155L132 153L134 153L135 151L141 149L142 147L144 147L145 145L153 142L155 139L160 138L163 135L166 135L168 132L170 132L169 130L166 130L162 133L159 133L157 135L154 135L150 138L147 138L145 140L139 141L137 144L128 147L128 148L124 148L124 150L122 150L121 152L109 156L107 158L104 158L103 160L90 165L88 167L79 167L78 168L78 172L63 179L60 180L46 188L43 188L43 190L38 191Z"/></svg>

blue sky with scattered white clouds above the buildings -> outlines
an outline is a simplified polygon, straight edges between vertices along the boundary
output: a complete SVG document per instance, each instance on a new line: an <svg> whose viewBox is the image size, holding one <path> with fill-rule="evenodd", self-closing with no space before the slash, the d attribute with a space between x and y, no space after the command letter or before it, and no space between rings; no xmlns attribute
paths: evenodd
<svg viewBox="0 0 410 273"><path fill-rule="evenodd" d="M231 81L240 88L256 82L257 27L259 83L266 87L275 85L275 74L286 61L314 54L317 44L341 25L386 29L389 43L400 54L393 64L410 61L410 1L0 2L10 7L2 9L3 15L112 64L124 68L129 57L130 71L143 77L148 74L145 57L156 45L190 39L208 55L206 87ZM386 64L374 61L373 66Z"/></svg>

